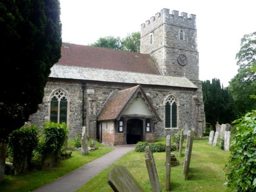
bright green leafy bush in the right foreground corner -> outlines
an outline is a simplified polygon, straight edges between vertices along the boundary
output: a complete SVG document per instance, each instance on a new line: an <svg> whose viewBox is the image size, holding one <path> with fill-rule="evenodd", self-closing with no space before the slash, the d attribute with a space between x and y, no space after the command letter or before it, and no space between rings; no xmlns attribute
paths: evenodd
<svg viewBox="0 0 256 192"><path fill-rule="evenodd" d="M225 167L229 191L256 191L256 110L235 120L229 164Z"/></svg>

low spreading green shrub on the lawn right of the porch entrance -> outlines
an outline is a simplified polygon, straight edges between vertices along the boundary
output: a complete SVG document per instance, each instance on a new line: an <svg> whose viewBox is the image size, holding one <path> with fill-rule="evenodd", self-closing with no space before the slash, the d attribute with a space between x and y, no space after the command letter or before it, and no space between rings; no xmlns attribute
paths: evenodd
<svg viewBox="0 0 256 192"><path fill-rule="evenodd" d="M145 152L146 146L150 146L152 153L165 152L165 147L166 147L166 145L162 142L156 142L156 143L138 142L135 145L135 151L136 152ZM172 144L171 151L175 151L175 150L176 150L176 145Z"/></svg>

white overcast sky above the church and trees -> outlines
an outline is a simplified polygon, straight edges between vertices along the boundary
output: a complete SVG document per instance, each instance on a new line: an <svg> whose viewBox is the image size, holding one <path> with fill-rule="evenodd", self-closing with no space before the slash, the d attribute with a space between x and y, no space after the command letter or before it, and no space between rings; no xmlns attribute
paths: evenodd
<svg viewBox="0 0 256 192"><path fill-rule="evenodd" d="M256 31L255 0L60 0L62 41L89 45L100 37L124 38L163 8L197 15L199 79L237 74L241 38Z"/></svg>

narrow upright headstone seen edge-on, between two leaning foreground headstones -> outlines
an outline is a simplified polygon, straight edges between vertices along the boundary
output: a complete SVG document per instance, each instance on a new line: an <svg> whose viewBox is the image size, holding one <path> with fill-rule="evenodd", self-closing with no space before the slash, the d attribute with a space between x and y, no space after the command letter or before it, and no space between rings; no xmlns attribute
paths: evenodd
<svg viewBox="0 0 256 192"><path fill-rule="evenodd" d="M165 190L170 190L170 135L166 136L165 148Z"/></svg>

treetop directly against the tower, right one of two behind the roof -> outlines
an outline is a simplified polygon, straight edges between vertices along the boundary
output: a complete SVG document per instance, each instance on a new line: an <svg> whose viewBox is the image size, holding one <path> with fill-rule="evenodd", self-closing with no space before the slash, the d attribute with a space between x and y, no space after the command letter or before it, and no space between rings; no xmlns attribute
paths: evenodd
<svg viewBox="0 0 256 192"><path fill-rule="evenodd" d="M122 40L122 50L130 51L130 52L140 52L140 32L134 32L132 34L128 34Z"/></svg>

